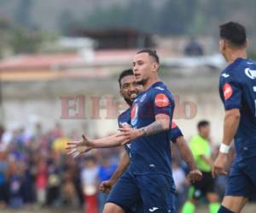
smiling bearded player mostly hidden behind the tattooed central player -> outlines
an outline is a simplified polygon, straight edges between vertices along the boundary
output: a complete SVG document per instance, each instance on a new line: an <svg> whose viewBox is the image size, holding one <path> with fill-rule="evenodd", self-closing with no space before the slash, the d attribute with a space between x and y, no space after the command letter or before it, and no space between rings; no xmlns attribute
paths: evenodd
<svg viewBox="0 0 256 213"><path fill-rule="evenodd" d="M120 87L120 94L124 97L127 104L131 107L132 102L137 97L138 91L140 90L140 89L136 89L137 88L136 78L134 77L132 70L125 70L124 72L121 72L121 74L119 75L119 87ZM128 108L125 112L119 115L119 118L118 118L119 124L123 124L123 125L130 124L131 123L130 115L131 115L131 108ZM175 143L183 159L187 164L189 164L189 169L190 169L189 180L192 182L200 180L201 172L196 169L192 153L190 152L189 147L186 144L186 141L184 141L183 139L183 134L181 130L179 130L179 128L174 122L172 122L171 141ZM126 145L125 149L127 152L123 153L122 158L119 162L118 169L113 173L113 176L108 181L102 181L102 184L100 185L100 190L102 190L102 192L109 193L113 185L118 181L119 177L122 176L122 174L125 172L125 170L129 166L130 148L127 147ZM119 186L119 183L118 183L118 186ZM122 185L120 187L122 187ZM123 190L120 190L119 187L116 187L113 190L117 190L121 192L123 191ZM114 198L110 198L110 199L113 200ZM142 200L140 199L137 202L136 206L131 208L131 210L133 210L133 212L143 212L142 207L143 207Z"/></svg>

